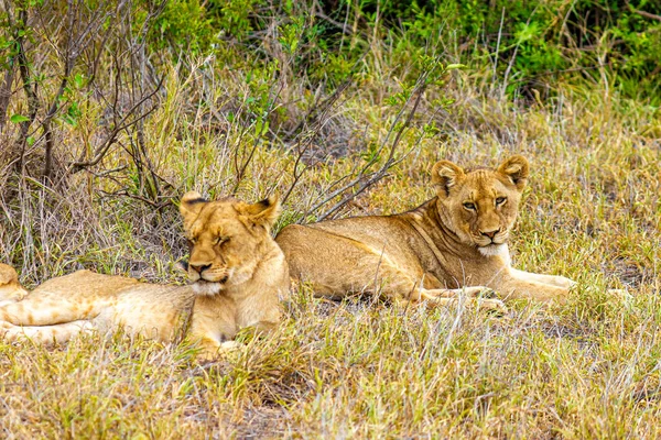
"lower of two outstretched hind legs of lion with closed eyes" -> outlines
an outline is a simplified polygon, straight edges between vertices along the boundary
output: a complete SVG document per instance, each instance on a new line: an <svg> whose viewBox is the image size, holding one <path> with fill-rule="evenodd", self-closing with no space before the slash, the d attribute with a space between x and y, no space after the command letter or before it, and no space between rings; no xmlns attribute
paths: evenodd
<svg viewBox="0 0 661 440"><path fill-rule="evenodd" d="M41 344L63 343L82 332L91 332L96 326L88 320L78 320L54 326L14 326L9 322L0 323L0 333L8 341L30 340Z"/></svg>

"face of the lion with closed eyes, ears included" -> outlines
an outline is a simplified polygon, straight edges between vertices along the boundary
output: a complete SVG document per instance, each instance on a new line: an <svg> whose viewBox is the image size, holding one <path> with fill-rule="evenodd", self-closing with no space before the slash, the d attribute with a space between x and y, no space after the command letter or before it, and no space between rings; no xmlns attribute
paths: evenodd
<svg viewBox="0 0 661 440"><path fill-rule="evenodd" d="M187 193L180 211L191 250L188 278L197 294L216 295L252 277L280 205L275 199L207 201Z"/></svg>

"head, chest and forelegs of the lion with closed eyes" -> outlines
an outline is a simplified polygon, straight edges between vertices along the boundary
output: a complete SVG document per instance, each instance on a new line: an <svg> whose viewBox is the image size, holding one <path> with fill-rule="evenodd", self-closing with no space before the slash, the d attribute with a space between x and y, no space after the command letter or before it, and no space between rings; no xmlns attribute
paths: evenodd
<svg viewBox="0 0 661 440"><path fill-rule="evenodd" d="M290 289L284 255L270 234L280 204L266 199L248 205L231 198L207 202L188 193L181 212L191 248L188 278L197 292L191 332L214 327L225 340L246 327L260 332L275 327L280 300ZM213 350L218 339L205 336L202 343Z"/></svg>

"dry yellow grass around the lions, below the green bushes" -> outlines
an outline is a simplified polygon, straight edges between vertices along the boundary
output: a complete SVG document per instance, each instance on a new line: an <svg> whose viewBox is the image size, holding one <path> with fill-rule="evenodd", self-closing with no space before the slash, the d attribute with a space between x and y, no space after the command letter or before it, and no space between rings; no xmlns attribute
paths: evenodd
<svg viewBox="0 0 661 440"><path fill-rule="evenodd" d="M661 437L659 110L619 97L607 79L559 84L545 102L517 101L490 84L489 72L465 69L430 85L404 128L416 95L388 101L401 91L395 75L404 75L389 67L390 56L375 44L361 78L335 97L317 96L291 69L267 75L259 90L273 97L268 130L245 111L256 94L251 66L171 65L141 121L144 140L123 131L98 166L52 185L0 163L0 261L28 286L80 267L183 282L173 267L185 256L181 221L169 197L289 193L279 227L315 220L360 185L312 208L380 146L382 165L401 132L397 163L334 215L418 206L433 196L429 172L440 158L496 165L524 154L532 178L511 243L514 264L577 280L568 304L516 302L497 318L460 306L335 304L303 289L275 334L205 364L194 348L121 334L56 350L0 341L0 436ZM454 102L441 108L438 98ZM22 102L17 90L10 113L23 112ZM59 164L106 130L107 102L86 106L76 124L57 125ZM0 147L11 150L18 134L8 124ZM149 152L143 170L132 140ZM40 142L28 168L39 164ZM153 198L145 182L159 182Z"/></svg>

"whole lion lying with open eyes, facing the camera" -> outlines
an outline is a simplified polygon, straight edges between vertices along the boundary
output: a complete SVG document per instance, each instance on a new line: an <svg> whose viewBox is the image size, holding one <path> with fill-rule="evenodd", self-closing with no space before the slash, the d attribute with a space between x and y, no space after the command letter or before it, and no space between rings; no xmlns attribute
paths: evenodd
<svg viewBox="0 0 661 440"><path fill-rule="evenodd" d="M355 217L285 227L275 238L293 278L317 296L378 293L393 301L467 304L505 310L502 298L562 301L568 278L511 266L507 241L529 176L514 155L498 168L432 168L436 197L392 216Z"/></svg>

